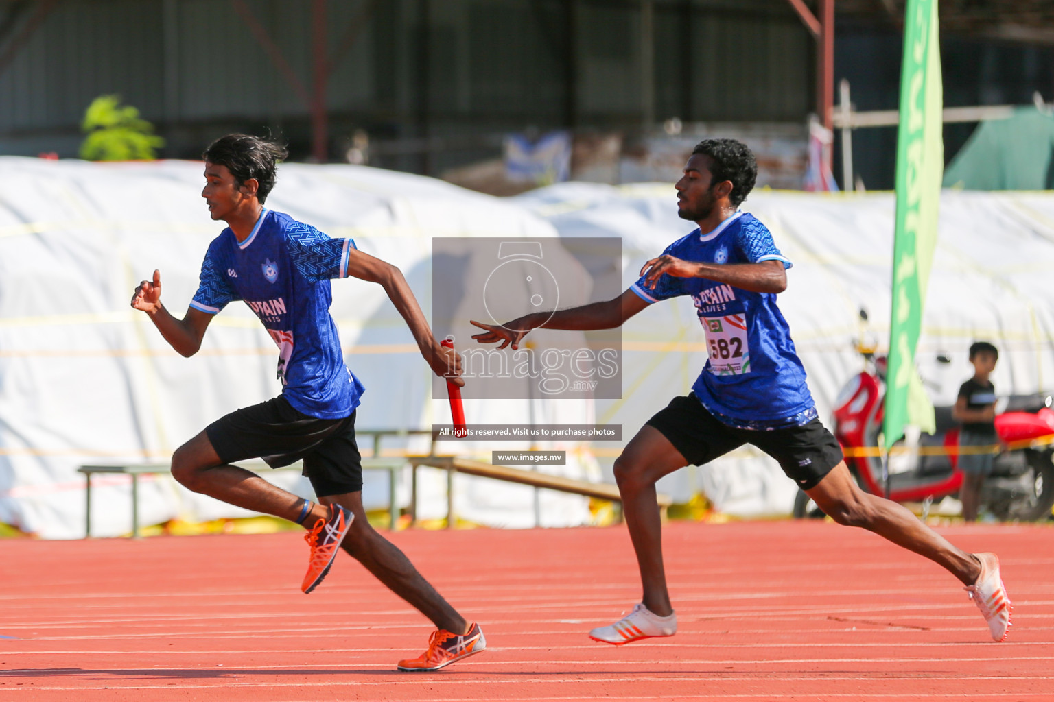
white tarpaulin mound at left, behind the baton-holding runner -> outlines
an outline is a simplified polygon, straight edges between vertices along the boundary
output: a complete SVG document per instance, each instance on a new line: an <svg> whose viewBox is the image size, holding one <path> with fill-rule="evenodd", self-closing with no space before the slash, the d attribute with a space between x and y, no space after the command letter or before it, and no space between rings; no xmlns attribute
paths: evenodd
<svg viewBox="0 0 1054 702"><path fill-rule="evenodd" d="M209 242L221 230L199 193L193 162L92 164L0 158L0 522L48 538L84 533L82 464L164 462L209 422L280 392L277 349L252 313L230 305L212 322L201 350L178 356L129 300L137 282L161 270L162 301L177 316L197 288ZM442 181L350 165L286 164L267 205L316 225L404 272L430 309L431 237L555 237L515 204ZM449 422L447 402L430 401L430 369L378 285L333 282L332 314L348 365L366 394L359 428L428 427ZM522 423L526 401L472 402L469 422ZM540 423L591 423L589 402L533 407ZM369 441L360 442L365 447ZM427 453L428 442L411 442ZM485 447L441 444L448 453ZM505 442L497 448L527 448ZM566 466L600 479L594 459L574 446ZM490 448L489 446L486 448ZM268 479L298 494L295 473ZM404 476L406 478L406 476ZM445 474L422 468L418 516L443 517ZM93 480L93 534L125 533L129 479ZM140 521L207 520L247 513L193 495L171 479L140 480ZM457 476L458 516L497 526L534 523L532 489ZM399 501L409 495L407 480ZM366 475L367 506L388 503L387 477ZM590 519L588 501L543 492L541 523Z"/></svg>

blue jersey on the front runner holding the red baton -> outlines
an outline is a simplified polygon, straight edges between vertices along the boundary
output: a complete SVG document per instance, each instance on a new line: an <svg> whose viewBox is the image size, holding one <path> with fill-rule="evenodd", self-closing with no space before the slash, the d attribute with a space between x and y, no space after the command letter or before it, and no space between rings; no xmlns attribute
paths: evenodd
<svg viewBox="0 0 1054 702"><path fill-rule="evenodd" d="M230 228L213 239L191 306L217 314L243 300L278 345L278 379L305 415L340 419L358 406L363 384L344 364L330 317L331 278L344 278L351 239L331 239L289 215L265 209L238 242Z"/></svg>

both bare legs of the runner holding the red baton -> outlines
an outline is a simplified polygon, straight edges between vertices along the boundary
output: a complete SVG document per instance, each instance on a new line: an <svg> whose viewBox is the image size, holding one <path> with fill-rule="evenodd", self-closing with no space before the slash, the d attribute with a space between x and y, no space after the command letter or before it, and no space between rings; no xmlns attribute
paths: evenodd
<svg viewBox="0 0 1054 702"><path fill-rule="evenodd" d="M220 461L209 436L201 432L180 446L172 457L172 475L188 489L253 512L274 515L291 522L300 516L301 498L272 485L256 474ZM304 519L311 528L329 514L325 505L336 502L355 515L343 548L389 589L416 607L442 629L466 634L465 619L440 597L410 560L394 544L370 526L363 508L362 493L320 498Z"/></svg>

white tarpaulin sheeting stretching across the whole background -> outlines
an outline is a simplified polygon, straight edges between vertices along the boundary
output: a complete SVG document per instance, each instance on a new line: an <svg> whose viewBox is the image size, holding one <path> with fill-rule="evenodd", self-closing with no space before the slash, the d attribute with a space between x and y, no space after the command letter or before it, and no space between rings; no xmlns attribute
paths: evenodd
<svg viewBox="0 0 1054 702"><path fill-rule="evenodd" d="M243 305L212 323L201 352L183 359L144 315L129 307L136 283L161 269L167 306L177 315L197 285L212 222L198 193L201 164L91 164L0 158L0 521L50 538L83 534L85 463L164 461L210 421L279 389L276 349ZM268 206L399 266L426 314L430 308L431 237L619 236L625 283L640 265L691 223L677 218L671 185L611 187L567 183L511 200L448 184L350 165L286 164ZM821 418L842 383L861 367L854 343L858 312L868 334L889 329L891 195L764 193L744 209L765 222L796 264L780 307L809 374ZM1054 378L1054 196L945 193L941 239L920 340L922 377L934 399L950 403L971 373L967 347L994 341L993 377L1002 394L1050 387ZM429 369L379 286L334 281L333 315L347 362L366 385L360 428L421 427L449 421L445 400L430 400ZM660 303L624 329L623 399L466 401L469 423L622 424L628 440L675 395L687 392L705 360L703 333L688 300ZM953 359L936 362L937 354ZM364 442L368 445L367 442ZM460 447L446 444L448 450ZM470 445L489 449L527 445ZM597 479L600 468L575 444L563 474ZM427 450L427 442L411 443ZM618 445L596 443L610 465ZM547 467L557 470L561 466ZM608 479L609 468L606 469ZM268 476L307 494L295 474ZM128 480L97 478L93 531L126 531ZM445 478L422 470L421 516L445 514ZM704 489L733 514L789 510L795 487L775 462L744 449L699 470L681 470L660 489L687 500ZM408 485L399 487L405 504ZM367 475L368 506L387 504L383 475ZM500 526L534 523L531 489L460 476L458 514ZM541 523L589 521L588 504L543 492ZM241 516L171 480L140 486L143 523L174 517Z"/></svg>

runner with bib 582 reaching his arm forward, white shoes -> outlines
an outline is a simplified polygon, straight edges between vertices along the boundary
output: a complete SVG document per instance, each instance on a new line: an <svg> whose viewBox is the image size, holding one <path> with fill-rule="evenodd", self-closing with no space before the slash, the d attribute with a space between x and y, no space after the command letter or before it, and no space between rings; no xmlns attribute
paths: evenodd
<svg viewBox="0 0 1054 702"><path fill-rule="evenodd" d="M536 313L485 329L473 338L518 348L533 328L605 329L621 326L650 304L688 296L706 335L708 358L686 397L648 420L614 462L614 477L637 553L643 597L629 615L590 631L621 645L672 636L677 616L663 569L656 481L692 463L702 465L745 443L775 458L783 472L839 524L859 526L940 564L965 585L1001 641L1010 600L994 554L956 548L903 506L862 492L835 438L817 418L776 296L786 289L790 261L753 215L739 210L757 175L754 155L731 139L700 142L677 182L678 210L699 228L641 268L620 297L555 313Z"/></svg>

